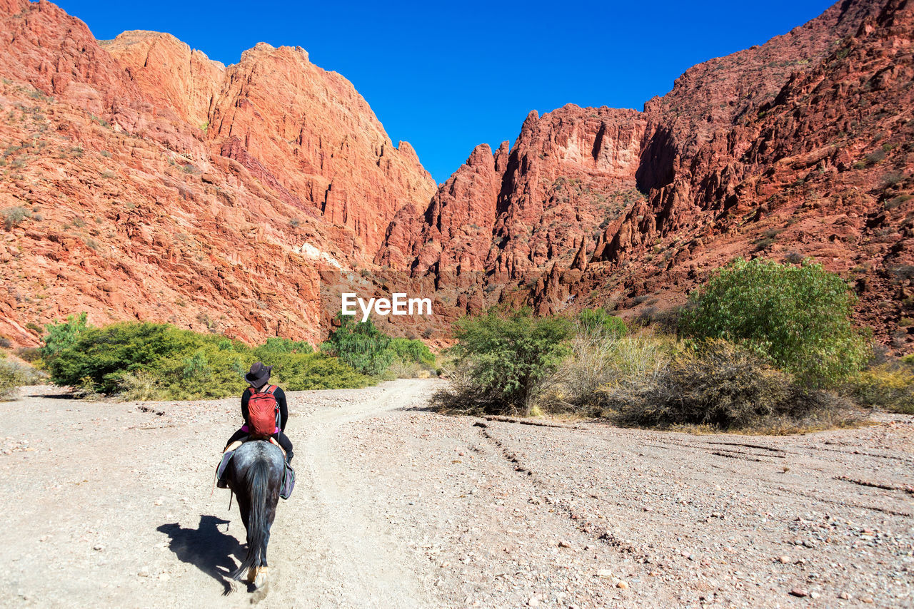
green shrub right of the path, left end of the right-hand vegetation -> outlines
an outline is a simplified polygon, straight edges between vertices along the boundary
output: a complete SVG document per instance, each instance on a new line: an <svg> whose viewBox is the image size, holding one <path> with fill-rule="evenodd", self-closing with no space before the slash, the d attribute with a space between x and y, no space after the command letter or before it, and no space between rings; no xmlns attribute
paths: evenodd
<svg viewBox="0 0 914 609"><path fill-rule="evenodd" d="M530 310L462 318L454 325L452 376L466 382L452 382L451 389L433 396L433 404L443 410L529 415L542 381L569 352L566 340L572 333L570 320L537 318Z"/></svg>

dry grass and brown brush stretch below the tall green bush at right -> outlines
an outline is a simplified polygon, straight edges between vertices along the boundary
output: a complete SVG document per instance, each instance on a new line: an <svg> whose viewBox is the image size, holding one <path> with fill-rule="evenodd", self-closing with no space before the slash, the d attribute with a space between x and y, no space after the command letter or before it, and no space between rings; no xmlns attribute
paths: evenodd
<svg viewBox="0 0 914 609"><path fill-rule="evenodd" d="M551 414L695 434L797 434L865 418L850 400L805 389L736 345L693 350L649 331L580 335L548 383L542 404Z"/></svg>

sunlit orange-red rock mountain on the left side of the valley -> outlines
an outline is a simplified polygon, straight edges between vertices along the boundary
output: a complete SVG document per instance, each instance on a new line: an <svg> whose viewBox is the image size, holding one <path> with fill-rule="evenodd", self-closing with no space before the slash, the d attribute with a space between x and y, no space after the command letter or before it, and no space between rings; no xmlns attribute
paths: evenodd
<svg viewBox="0 0 914 609"><path fill-rule="evenodd" d="M0 49L0 334L17 343L80 310L319 341L335 273L370 264L399 208L434 193L301 48L226 68L166 34L100 44L56 5L3 0Z"/></svg>

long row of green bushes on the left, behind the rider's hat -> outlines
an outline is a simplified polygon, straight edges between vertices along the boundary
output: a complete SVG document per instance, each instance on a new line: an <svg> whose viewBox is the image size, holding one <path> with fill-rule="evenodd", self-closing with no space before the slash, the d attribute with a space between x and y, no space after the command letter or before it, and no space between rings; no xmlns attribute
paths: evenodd
<svg viewBox="0 0 914 609"><path fill-rule="evenodd" d="M251 349L224 336L168 324L122 322L104 328L85 316L48 324L42 352L54 383L128 399L198 399L240 394L256 361L273 366L286 389L361 387L363 374L306 342L270 339Z"/></svg>

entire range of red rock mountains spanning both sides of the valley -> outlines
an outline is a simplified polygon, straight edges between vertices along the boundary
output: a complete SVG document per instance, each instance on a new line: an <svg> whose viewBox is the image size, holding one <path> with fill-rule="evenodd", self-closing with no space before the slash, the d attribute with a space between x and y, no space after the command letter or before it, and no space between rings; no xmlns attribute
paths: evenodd
<svg viewBox="0 0 914 609"><path fill-rule="evenodd" d="M432 295L399 334L505 302L656 317L736 256L813 257L896 351L914 328L914 8L843 0L688 69L643 111L531 112L435 188L301 48L225 67L166 34L97 42L0 0L0 334L171 320L320 340L339 291Z"/></svg>

